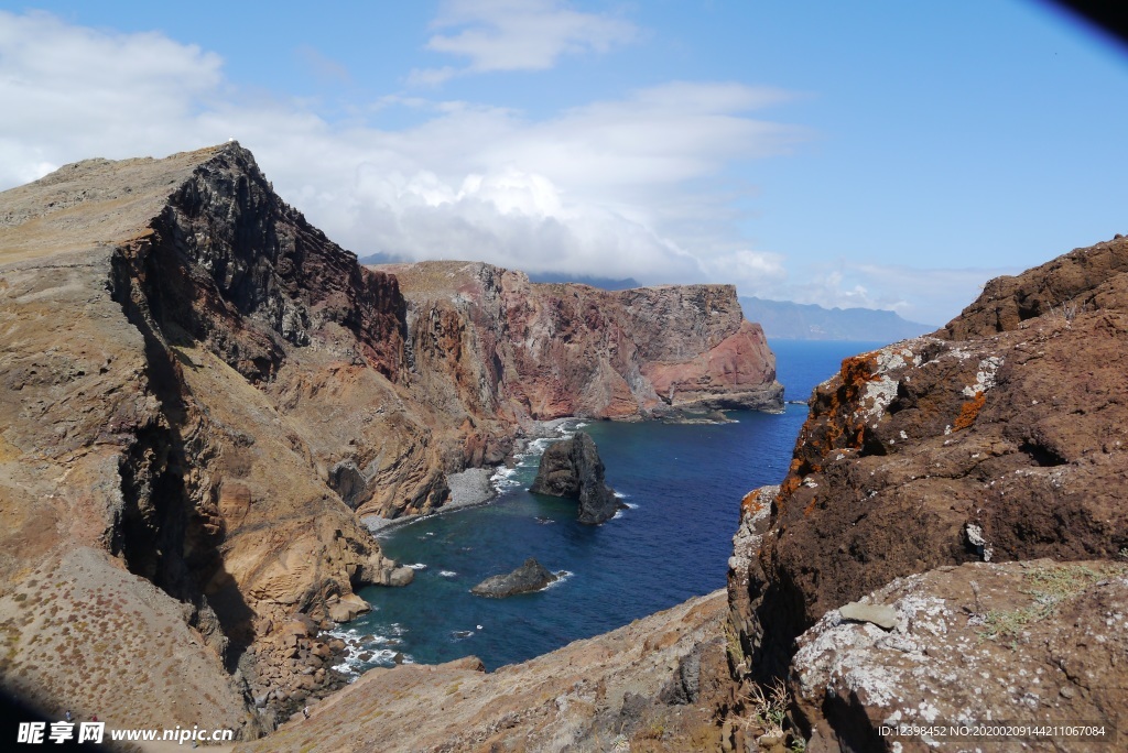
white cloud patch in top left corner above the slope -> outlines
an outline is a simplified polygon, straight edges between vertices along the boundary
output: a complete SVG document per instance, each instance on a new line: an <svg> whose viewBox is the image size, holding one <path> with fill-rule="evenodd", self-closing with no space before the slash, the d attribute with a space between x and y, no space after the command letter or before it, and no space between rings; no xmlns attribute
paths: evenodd
<svg viewBox="0 0 1128 753"><path fill-rule="evenodd" d="M0 11L0 184L25 183L59 156L165 149L166 129L220 94L219 55L159 34L71 26ZM111 152L111 153L107 153Z"/></svg>

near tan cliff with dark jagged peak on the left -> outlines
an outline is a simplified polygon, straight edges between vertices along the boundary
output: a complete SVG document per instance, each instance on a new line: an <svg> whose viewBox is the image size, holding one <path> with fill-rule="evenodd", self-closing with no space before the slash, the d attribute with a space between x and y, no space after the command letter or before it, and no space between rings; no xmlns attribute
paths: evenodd
<svg viewBox="0 0 1128 753"><path fill-rule="evenodd" d="M0 264L5 689L51 714L255 735L332 686L317 630L395 564L328 469L380 448L430 469L397 494L442 488L412 444L426 427L377 417L403 399L395 278L235 143L6 192ZM294 614L302 645L274 641Z"/></svg>

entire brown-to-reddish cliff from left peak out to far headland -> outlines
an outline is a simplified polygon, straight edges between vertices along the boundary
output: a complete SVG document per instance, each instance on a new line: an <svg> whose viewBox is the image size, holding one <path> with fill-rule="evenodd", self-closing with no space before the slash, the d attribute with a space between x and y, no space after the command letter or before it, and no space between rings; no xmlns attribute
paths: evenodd
<svg viewBox="0 0 1128 753"><path fill-rule="evenodd" d="M403 280L233 142L0 194L7 692L255 736L340 685L317 636L353 588L409 575L360 514L441 506L536 419L778 401L730 287Z"/></svg>

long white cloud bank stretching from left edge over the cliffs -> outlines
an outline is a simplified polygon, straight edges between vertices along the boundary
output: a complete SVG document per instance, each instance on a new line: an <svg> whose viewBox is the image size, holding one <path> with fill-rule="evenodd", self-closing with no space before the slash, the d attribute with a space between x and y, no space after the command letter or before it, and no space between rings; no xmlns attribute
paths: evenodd
<svg viewBox="0 0 1128 753"><path fill-rule="evenodd" d="M248 98L218 55L156 34L0 14L0 186L78 159L160 157L235 136L287 201L362 256L742 291L785 276L783 257L750 249L728 224L747 189L690 186L805 138L754 117L786 92L669 82L543 119L389 96L378 106L422 119L386 131L333 125L311 103Z"/></svg>

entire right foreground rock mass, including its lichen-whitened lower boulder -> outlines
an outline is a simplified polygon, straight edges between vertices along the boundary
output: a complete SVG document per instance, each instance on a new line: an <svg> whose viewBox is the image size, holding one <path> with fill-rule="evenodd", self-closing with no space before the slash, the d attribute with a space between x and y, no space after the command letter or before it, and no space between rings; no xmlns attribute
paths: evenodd
<svg viewBox="0 0 1128 753"><path fill-rule="evenodd" d="M1126 265L1118 237L993 281L943 330L847 358L816 389L786 479L744 500L730 561L735 674L792 679L809 750L892 750L885 718L1126 708L1122 683L1066 668L1100 665L1128 630L1111 606L1128 552ZM1040 558L1070 565L984 565ZM862 597L899 627L844 622ZM1107 619L1089 634L1091 609ZM985 640L981 663L960 658ZM1020 665L1033 674L1016 680ZM975 698L945 696L961 683Z"/></svg>

